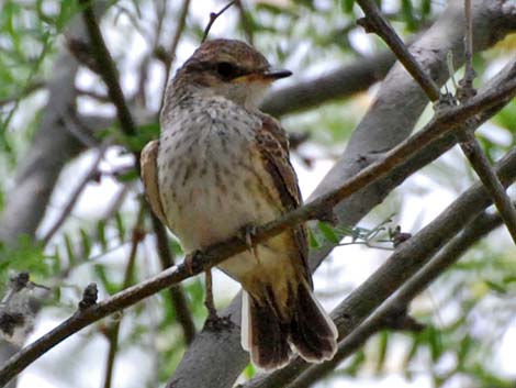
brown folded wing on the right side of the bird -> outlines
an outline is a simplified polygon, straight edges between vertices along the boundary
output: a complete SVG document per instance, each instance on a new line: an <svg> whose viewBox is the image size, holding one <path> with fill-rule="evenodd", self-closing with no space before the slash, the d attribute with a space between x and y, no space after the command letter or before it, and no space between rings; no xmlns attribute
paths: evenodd
<svg viewBox="0 0 516 388"><path fill-rule="evenodd" d="M256 132L256 141L265 168L281 200L283 213L299 208L302 203L298 176L289 159L289 141L281 124L267 114L260 114L261 128ZM309 237L306 225L292 230L293 241L303 260L306 280L312 285L309 270Z"/></svg>

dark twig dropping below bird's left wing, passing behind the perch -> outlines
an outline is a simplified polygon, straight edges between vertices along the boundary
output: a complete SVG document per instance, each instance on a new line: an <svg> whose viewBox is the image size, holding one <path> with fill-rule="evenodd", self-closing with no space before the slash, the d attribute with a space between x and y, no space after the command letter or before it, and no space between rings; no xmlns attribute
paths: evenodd
<svg viewBox="0 0 516 388"><path fill-rule="evenodd" d="M156 215L150 213L153 221L154 234L156 235L156 251L158 252L159 260L161 263L161 269L173 267L176 264L173 260L172 252L170 251L167 237L167 231L164 224L159 221ZM184 342L190 344L195 337L195 323L188 307L188 298L184 295L184 289L181 285L170 287L168 289L172 308L176 311L178 322L181 325L182 333L184 335Z"/></svg>

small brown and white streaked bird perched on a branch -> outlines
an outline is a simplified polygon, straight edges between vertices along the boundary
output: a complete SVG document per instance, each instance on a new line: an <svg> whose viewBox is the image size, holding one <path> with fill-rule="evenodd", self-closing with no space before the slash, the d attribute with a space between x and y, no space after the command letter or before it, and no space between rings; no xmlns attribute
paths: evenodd
<svg viewBox="0 0 516 388"><path fill-rule="evenodd" d="M287 133L259 110L271 84L291 74L245 42L215 38L168 84L142 178L150 208L187 254L302 206ZM242 346L261 369L294 354L321 363L336 353L337 330L314 297L307 257L301 224L218 265L243 287Z"/></svg>

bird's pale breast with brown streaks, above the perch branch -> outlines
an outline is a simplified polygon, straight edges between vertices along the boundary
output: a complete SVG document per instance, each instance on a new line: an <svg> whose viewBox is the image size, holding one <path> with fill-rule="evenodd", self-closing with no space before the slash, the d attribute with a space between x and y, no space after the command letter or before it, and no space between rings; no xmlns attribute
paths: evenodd
<svg viewBox="0 0 516 388"><path fill-rule="evenodd" d="M279 214L254 142L253 115L204 109L178 115L161 133L159 191L172 232L187 252Z"/></svg>

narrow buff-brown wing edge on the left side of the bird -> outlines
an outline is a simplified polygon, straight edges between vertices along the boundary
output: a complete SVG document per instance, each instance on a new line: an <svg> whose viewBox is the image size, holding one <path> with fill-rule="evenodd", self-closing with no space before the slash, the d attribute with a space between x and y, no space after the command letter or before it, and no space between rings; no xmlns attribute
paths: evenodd
<svg viewBox="0 0 516 388"><path fill-rule="evenodd" d="M164 223L167 224L167 218L161 207L161 199L159 196L158 186L158 168L157 157L159 149L159 141L154 140L144 147L139 157L139 165L142 168L142 180L145 187L145 193L147 201L150 204L156 217Z"/></svg>

